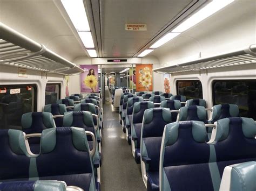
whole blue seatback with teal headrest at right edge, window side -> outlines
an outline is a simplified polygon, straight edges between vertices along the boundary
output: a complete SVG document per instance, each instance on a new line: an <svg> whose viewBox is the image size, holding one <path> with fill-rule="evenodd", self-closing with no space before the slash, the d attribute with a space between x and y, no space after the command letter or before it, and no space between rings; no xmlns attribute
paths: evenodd
<svg viewBox="0 0 256 191"><path fill-rule="evenodd" d="M214 154L219 171L219 184L226 166L256 160L256 123L252 118L220 119L212 135L215 135Z"/></svg>

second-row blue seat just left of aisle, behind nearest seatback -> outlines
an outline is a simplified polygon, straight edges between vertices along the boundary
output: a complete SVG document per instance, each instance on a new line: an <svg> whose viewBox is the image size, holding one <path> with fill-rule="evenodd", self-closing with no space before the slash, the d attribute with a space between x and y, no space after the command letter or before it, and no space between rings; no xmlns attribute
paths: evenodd
<svg viewBox="0 0 256 191"><path fill-rule="evenodd" d="M86 131L91 131L97 139L97 133L95 125L93 123L92 113L90 111L69 111L65 112L63 117L63 126L75 126L77 128L83 128ZM87 136L87 140L92 149L92 137ZM93 164L95 166L100 165L100 152L97 144L95 155L93 156Z"/></svg>

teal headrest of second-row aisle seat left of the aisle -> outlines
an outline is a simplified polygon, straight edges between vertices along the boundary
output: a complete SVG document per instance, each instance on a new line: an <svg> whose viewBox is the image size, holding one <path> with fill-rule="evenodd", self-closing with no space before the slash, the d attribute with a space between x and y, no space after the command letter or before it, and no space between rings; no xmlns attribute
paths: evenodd
<svg viewBox="0 0 256 191"><path fill-rule="evenodd" d="M64 126L72 126L73 120L76 120L77 117L83 118L83 124L86 126L94 126L92 113L90 111L69 111L65 112L63 117Z"/></svg>

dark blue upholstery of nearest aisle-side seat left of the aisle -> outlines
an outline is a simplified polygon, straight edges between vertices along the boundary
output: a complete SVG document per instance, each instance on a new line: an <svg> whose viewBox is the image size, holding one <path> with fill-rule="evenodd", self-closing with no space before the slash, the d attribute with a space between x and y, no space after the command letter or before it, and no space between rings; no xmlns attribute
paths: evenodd
<svg viewBox="0 0 256 191"><path fill-rule="evenodd" d="M73 142L71 128L56 129L53 150L41 153L36 159L39 180L63 180L68 186L89 190L91 179L95 183L91 157L88 151L78 150Z"/></svg>

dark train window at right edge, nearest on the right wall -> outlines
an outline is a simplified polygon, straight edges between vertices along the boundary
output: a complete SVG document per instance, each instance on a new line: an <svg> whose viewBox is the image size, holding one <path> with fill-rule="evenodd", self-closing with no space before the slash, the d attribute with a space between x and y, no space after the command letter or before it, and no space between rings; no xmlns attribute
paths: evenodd
<svg viewBox="0 0 256 191"><path fill-rule="evenodd" d="M212 95L213 105L237 104L241 117L256 120L256 80L215 80Z"/></svg>

